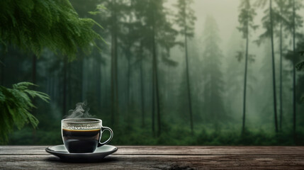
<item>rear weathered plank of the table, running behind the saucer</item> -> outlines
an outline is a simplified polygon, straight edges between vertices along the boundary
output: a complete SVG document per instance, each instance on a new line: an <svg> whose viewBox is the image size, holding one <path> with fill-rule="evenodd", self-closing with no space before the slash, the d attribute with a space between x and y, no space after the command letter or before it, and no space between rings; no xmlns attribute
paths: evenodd
<svg viewBox="0 0 304 170"><path fill-rule="evenodd" d="M47 146L0 146L0 155L46 155ZM118 146L116 155L304 155L304 147Z"/></svg>

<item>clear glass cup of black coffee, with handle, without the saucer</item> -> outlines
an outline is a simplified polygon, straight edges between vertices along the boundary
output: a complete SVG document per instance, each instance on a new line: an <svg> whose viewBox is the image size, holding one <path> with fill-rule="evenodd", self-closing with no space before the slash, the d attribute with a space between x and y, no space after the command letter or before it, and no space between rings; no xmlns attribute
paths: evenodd
<svg viewBox="0 0 304 170"><path fill-rule="evenodd" d="M67 118L61 120L62 140L69 153L92 153L111 141L113 131L102 126L102 120L96 118ZM104 130L111 135L105 142L100 142Z"/></svg>

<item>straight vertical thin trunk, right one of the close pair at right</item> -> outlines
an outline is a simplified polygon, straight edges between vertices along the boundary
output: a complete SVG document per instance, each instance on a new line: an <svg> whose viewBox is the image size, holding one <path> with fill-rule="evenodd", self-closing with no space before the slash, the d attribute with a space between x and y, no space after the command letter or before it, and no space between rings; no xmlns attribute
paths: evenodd
<svg viewBox="0 0 304 170"><path fill-rule="evenodd" d="M281 11L282 13L282 11ZM280 123L279 123L279 127L280 127L280 131L282 131L282 119L283 119L283 91L282 91L282 68L283 68L283 38L282 38L282 21L280 21Z"/></svg>

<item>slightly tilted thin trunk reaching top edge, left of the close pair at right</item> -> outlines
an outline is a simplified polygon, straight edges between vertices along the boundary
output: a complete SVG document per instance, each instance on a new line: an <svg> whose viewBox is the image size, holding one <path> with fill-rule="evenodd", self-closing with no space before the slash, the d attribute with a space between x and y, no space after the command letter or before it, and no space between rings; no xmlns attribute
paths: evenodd
<svg viewBox="0 0 304 170"><path fill-rule="evenodd" d="M276 132L278 132L278 120L276 113L276 67L274 64L274 28L273 28L273 18L272 18L272 0L269 1L269 15L270 15L270 33L271 33L271 58L272 58L272 84L274 89L274 125Z"/></svg>

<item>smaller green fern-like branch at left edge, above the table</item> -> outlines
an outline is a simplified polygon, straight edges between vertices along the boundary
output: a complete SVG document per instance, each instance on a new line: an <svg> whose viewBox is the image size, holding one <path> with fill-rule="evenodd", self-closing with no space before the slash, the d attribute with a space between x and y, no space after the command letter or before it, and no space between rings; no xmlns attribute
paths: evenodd
<svg viewBox="0 0 304 170"><path fill-rule="evenodd" d="M15 125L19 130L27 123L33 128L37 127L39 121L30 113L31 108L35 108L31 98L38 97L47 102L49 96L28 89L28 86L33 85L29 82L21 82L13 84L13 89L0 86L0 143L7 142L8 134L13 131Z"/></svg>

